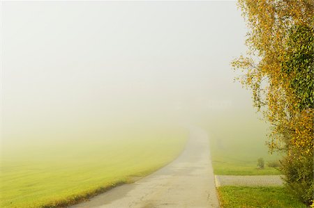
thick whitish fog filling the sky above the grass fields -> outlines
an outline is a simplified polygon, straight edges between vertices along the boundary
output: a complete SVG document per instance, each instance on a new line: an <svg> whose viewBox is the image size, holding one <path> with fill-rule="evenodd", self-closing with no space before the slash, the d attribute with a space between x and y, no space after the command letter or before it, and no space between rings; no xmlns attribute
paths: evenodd
<svg viewBox="0 0 314 208"><path fill-rule="evenodd" d="M1 4L3 144L257 117L230 67L246 51L234 1Z"/></svg>

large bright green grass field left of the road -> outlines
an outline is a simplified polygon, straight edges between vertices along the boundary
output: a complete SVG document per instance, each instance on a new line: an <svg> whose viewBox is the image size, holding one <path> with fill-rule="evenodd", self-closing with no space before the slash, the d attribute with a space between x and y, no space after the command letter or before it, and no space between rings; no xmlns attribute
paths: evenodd
<svg viewBox="0 0 314 208"><path fill-rule="evenodd" d="M132 182L177 157L187 136L184 129L121 129L104 138L4 146L0 207L67 205Z"/></svg>

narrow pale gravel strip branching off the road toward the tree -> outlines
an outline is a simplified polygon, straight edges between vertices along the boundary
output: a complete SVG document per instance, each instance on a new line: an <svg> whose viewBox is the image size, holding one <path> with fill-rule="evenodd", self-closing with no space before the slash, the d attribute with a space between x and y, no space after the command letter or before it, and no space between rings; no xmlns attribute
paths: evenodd
<svg viewBox="0 0 314 208"><path fill-rule="evenodd" d="M283 175L215 175L216 186L283 186Z"/></svg>

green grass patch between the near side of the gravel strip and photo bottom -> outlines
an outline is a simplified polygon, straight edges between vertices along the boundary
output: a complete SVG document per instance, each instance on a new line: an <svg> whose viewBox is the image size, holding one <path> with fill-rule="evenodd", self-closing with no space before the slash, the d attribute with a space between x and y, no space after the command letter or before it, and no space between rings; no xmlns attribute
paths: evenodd
<svg viewBox="0 0 314 208"><path fill-rule="evenodd" d="M221 186L218 195L223 208L306 208L283 187Z"/></svg>

